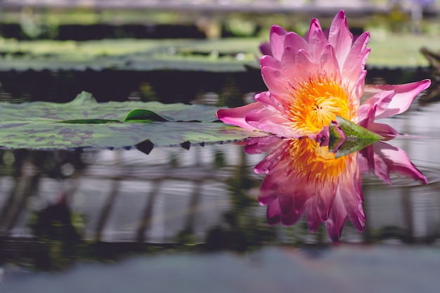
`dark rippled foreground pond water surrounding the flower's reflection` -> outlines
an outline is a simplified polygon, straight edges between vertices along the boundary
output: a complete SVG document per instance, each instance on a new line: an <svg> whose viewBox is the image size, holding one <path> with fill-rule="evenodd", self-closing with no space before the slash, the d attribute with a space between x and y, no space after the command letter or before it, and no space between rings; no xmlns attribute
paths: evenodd
<svg viewBox="0 0 440 293"><path fill-rule="evenodd" d="M339 245L304 216L268 225L254 172L268 152L237 143L1 150L0 292L437 292L439 112L381 121L410 135L387 143L428 183L364 174L365 230L347 221Z"/></svg>

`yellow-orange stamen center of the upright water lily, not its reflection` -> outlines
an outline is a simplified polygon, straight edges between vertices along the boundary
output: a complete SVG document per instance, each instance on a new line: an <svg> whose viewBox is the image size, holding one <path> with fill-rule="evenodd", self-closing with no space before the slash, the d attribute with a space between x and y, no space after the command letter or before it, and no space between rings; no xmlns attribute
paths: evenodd
<svg viewBox="0 0 440 293"><path fill-rule="evenodd" d="M292 103L289 107L292 129L303 135L317 134L336 116L357 122L352 100L339 77L326 74L309 77L305 82L292 84Z"/></svg>

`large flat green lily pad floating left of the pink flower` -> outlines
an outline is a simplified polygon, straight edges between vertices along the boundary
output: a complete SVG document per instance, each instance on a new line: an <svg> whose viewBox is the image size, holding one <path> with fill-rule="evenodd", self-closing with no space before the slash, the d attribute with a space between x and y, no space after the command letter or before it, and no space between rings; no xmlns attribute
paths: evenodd
<svg viewBox="0 0 440 293"><path fill-rule="evenodd" d="M136 110L131 111L134 108ZM150 141L153 146L183 143L187 147L196 143L266 136L262 132L214 122L216 110L212 106L180 103L96 103L89 93L84 92L72 102L64 104L0 103L0 146L37 149L124 148ZM152 122L124 122L124 119L127 122L139 119L145 122L144 118L150 118ZM195 118L200 122L193 122Z"/></svg>

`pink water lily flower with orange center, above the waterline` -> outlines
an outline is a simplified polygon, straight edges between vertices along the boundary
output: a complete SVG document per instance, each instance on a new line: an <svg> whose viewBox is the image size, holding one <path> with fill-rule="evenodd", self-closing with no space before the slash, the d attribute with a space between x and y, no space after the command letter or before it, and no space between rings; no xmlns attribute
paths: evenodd
<svg viewBox="0 0 440 293"><path fill-rule="evenodd" d="M268 91L255 103L220 109L221 121L277 136L316 138L336 116L382 136L398 132L375 119L406 111L413 99L431 83L429 79L403 85L365 86L365 62L370 34L353 41L344 11L323 32L312 19L306 39L274 25L270 48L264 47L261 76ZM365 94L365 102L360 105Z"/></svg>

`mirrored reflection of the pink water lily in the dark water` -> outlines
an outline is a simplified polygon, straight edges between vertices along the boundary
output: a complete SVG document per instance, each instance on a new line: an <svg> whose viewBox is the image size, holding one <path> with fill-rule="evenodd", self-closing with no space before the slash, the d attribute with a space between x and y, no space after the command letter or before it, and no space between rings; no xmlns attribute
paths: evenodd
<svg viewBox="0 0 440 293"><path fill-rule="evenodd" d="M363 172L371 172L386 183L391 183L389 174L392 172L427 183L406 152L383 142L338 157L328 146L306 137L268 136L251 139L245 151L250 154L270 152L254 168L257 174L266 174L259 202L267 205L268 223L290 226L304 214L312 233L325 223L333 242L339 242L347 219L359 231L364 229Z"/></svg>

